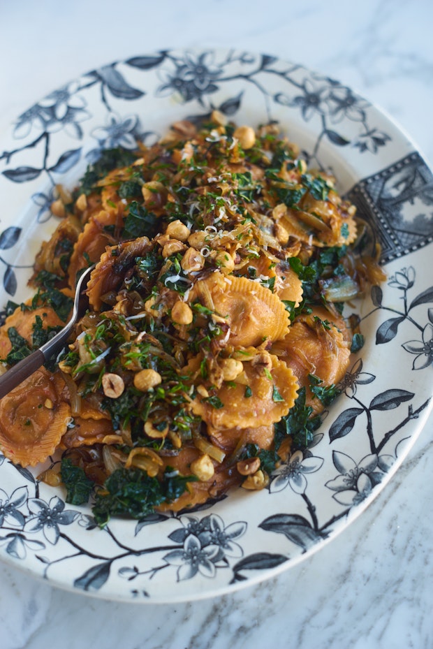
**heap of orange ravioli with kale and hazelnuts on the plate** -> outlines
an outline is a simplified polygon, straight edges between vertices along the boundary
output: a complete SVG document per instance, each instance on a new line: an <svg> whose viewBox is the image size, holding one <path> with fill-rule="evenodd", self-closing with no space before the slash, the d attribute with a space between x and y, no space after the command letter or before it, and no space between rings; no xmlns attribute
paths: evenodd
<svg viewBox="0 0 433 649"><path fill-rule="evenodd" d="M34 298L8 305L4 370L89 309L67 347L0 401L0 446L113 515L265 488L311 442L362 344L343 303L383 274L335 179L275 124L177 122L107 150L52 205ZM42 471L42 469L41 469Z"/></svg>

